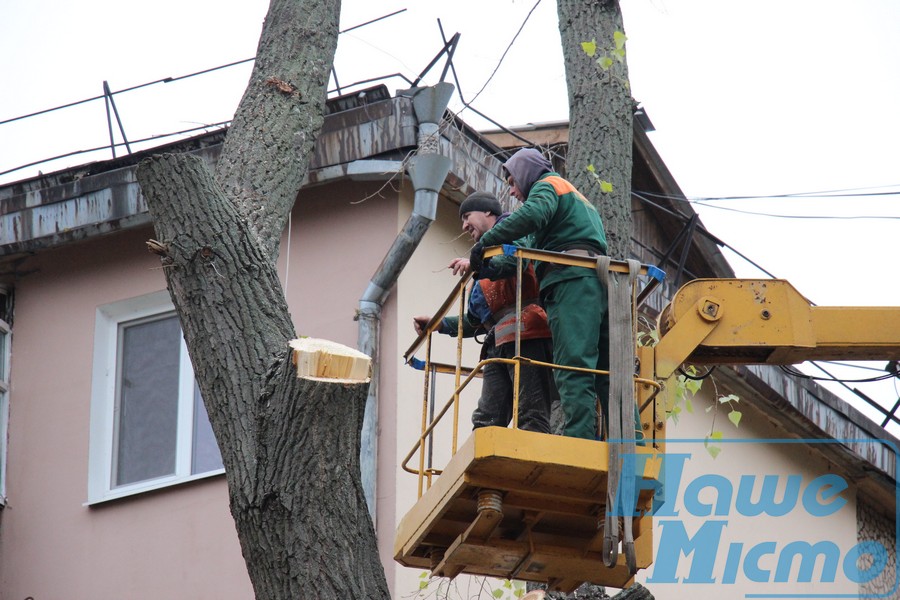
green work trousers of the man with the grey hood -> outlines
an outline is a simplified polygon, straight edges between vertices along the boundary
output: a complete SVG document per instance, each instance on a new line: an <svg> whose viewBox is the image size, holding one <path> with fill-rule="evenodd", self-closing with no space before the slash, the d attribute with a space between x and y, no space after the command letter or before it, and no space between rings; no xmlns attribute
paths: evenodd
<svg viewBox="0 0 900 600"><path fill-rule="evenodd" d="M553 362L584 369L609 370L609 320L606 289L589 277L566 279L541 291L553 335ZM554 379L565 415L565 435L599 439L597 399L604 418L609 415L609 377L555 369ZM635 432L643 438L635 411ZM604 429L608 429L604 427Z"/></svg>

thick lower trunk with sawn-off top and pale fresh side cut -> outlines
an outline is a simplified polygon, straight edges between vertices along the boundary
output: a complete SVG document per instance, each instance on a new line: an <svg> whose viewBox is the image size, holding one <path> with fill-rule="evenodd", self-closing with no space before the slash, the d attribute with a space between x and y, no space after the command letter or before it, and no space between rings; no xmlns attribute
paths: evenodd
<svg viewBox="0 0 900 600"><path fill-rule="evenodd" d="M275 267L200 159L138 178L257 599L387 598L359 473L367 384L297 378Z"/></svg>

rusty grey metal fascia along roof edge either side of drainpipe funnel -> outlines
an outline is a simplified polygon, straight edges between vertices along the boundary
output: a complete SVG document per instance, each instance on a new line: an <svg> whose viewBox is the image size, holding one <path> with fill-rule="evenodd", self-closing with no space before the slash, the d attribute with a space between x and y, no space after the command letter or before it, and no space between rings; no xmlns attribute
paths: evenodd
<svg viewBox="0 0 900 600"><path fill-rule="evenodd" d="M451 119L451 123L458 119ZM197 136L183 141L183 147L211 166L221 152L221 143L206 145ZM217 132L216 135L221 135ZM317 185L341 178L388 179L397 172L400 159L417 143L416 120L409 98L398 97L328 115L317 139L306 185ZM474 138L473 138L474 136ZM199 147L198 147L199 146ZM490 151L491 144L477 139L477 133L457 126L446 127L441 139L442 152L451 157L451 174L444 195L456 202L476 189L505 196L498 177L500 163ZM176 152L180 146L165 146ZM141 155L132 164L117 165L100 171L103 163L92 163L32 180L0 187L0 256L35 252L69 242L151 222L146 203L135 177Z"/></svg>

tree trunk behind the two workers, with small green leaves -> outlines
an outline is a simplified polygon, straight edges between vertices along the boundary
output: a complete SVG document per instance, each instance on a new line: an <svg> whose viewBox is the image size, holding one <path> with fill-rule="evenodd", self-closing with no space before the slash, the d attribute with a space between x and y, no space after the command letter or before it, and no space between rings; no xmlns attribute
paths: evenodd
<svg viewBox="0 0 900 600"><path fill-rule="evenodd" d="M631 164L633 101L627 59L615 58L615 32L624 33L618 0L558 0L559 32L569 88L568 179L591 198L606 227L609 255L629 258L631 251ZM582 42L596 41L591 57ZM598 58L608 56L604 71ZM601 192L588 171L612 184Z"/></svg>

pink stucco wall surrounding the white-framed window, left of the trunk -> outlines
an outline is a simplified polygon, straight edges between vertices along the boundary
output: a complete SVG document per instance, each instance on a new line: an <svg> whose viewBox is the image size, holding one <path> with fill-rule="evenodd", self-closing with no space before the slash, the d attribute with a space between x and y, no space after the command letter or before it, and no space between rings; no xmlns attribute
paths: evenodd
<svg viewBox="0 0 900 600"><path fill-rule="evenodd" d="M16 286L4 598L250 595L222 477L85 506L95 310L165 288L148 237L116 235L21 267L30 273Z"/></svg>

